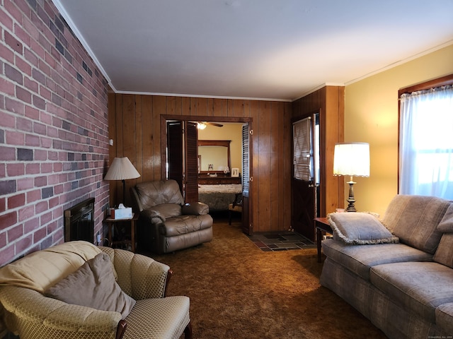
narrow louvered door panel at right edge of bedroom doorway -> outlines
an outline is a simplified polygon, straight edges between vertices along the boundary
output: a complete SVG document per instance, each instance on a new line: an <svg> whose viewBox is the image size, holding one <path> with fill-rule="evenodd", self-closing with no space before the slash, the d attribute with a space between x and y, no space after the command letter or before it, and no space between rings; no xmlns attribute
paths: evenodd
<svg viewBox="0 0 453 339"><path fill-rule="evenodd" d="M253 233L253 218L250 213L251 184L253 183L252 167L252 143L253 129L249 124L242 125L242 231L245 234Z"/></svg>

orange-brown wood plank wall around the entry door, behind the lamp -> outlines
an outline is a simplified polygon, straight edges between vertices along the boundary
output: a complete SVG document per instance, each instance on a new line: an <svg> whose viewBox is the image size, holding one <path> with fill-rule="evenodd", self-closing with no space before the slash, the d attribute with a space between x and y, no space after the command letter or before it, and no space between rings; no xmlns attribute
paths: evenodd
<svg viewBox="0 0 453 339"><path fill-rule="evenodd" d="M326 86L292 102L293 118L315 112L320 112L320 215L326 216L336 208L345 207L345 180L333 176L333 150L336 143L344 141L344 86Z"/></svg>

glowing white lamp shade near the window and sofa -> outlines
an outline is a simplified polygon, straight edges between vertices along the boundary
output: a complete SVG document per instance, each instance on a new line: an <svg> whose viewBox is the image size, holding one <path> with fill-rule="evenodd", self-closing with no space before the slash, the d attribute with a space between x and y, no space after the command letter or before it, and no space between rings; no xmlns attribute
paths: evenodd
<svg viewBox="0 0 453 339"><path fill-rule="evenodd" d="M337 143L333 175L369 177L369 143Z"/></svg>

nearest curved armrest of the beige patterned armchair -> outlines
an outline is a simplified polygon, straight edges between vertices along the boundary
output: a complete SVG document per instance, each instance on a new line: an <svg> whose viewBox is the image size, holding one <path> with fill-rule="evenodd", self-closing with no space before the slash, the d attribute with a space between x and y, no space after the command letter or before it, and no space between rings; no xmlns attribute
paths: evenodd
<svg viewBox="0 0 453 339"><path fill-rule="evenodd" d="M8 330L21 339L115 338L121 314L67 304L25 287L2 286L0 303ZM33 328L30 331L23 331ZM30 336L28 336L30 335Z"/></svg>

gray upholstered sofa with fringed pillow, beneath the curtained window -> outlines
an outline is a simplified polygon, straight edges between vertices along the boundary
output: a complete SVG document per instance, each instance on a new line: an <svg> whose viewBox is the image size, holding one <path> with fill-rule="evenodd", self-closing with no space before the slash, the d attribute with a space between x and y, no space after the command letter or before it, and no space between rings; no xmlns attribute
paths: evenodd
<svg viewBox="0 0 453 339"><path fill-rule="evenodd" d="M389 338L453 336L453 202L397 195L384 218L331 213L320 283Z"/></svg>

